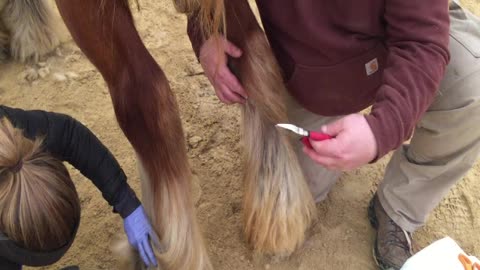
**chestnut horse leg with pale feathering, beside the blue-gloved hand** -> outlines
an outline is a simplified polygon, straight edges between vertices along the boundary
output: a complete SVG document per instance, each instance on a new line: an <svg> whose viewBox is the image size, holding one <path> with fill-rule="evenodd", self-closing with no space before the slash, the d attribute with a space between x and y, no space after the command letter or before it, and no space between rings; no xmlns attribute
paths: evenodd
<svg viewBox="0 0 480 270"><path fill-rule="evenodd" d="M211 265L191 198L191 171L175 97L135 29L127 0L57 0L73 39L107 82L118 123L144 168L143 203L162 269Z"/></svg>

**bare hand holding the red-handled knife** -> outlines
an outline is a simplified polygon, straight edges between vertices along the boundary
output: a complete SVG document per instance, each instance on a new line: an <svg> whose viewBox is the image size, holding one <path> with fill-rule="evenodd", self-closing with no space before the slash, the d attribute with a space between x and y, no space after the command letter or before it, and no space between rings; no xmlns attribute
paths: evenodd
<svg viewBox="0 0 480 270"><path fill-rule="evenodd" d="M333 136L324 141L310 140L313 149L303 148L316 163L331 170L352 170L377 156L377 142L365 117L351 114L321 128Z"/></svg>

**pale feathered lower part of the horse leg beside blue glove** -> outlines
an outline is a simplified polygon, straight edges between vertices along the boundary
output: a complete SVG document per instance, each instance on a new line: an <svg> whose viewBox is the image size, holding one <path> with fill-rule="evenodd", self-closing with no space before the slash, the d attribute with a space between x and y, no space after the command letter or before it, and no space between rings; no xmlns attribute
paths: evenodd
<svg viewBox="0 0 480 270"><path fill-rule="evenodd" d="M195 218L192 175L186 156L178 160L178 171L173 173L161 170L152 174L146 165L139 162L144 207L160 242L160 245L153 246L160 264L158 269L212 269Z"/></svg>

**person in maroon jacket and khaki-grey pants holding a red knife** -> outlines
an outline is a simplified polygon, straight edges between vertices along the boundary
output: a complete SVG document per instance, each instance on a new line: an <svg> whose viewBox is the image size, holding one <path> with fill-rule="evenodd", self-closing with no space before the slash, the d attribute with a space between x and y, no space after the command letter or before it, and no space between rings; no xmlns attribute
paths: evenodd
<svg viewBox="0 0 480 270"><path fill-rule="evenodd" d="M395 150L369 218L377 262L399 269L411 233L479 154L480 20L448 0L256 2L292 96L291 121L335 137L298 149L315 200L341 171ZM218 53L195 16L188 32L219 99L243 103L226 64L241 50L224 39Z"/></svg>

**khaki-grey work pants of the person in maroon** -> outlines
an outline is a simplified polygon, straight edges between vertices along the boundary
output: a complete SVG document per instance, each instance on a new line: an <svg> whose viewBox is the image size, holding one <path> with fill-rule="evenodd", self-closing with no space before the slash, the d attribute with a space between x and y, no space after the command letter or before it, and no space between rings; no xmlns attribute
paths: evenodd
<svg viewBox="0 0 480 270"><path fill-rule="evenodd" d="M425 223L480 153L480 20L456 3L451 3L450 18L451 61L438 94L417 124L410 144L393 154L377 192L389 217L410 232ZM293 124L309 130L339 118L313 114L293 100L289 100L288 113ZM341 172L317 165L302 152L300 143L294 145L319 202Z"/></svg>

